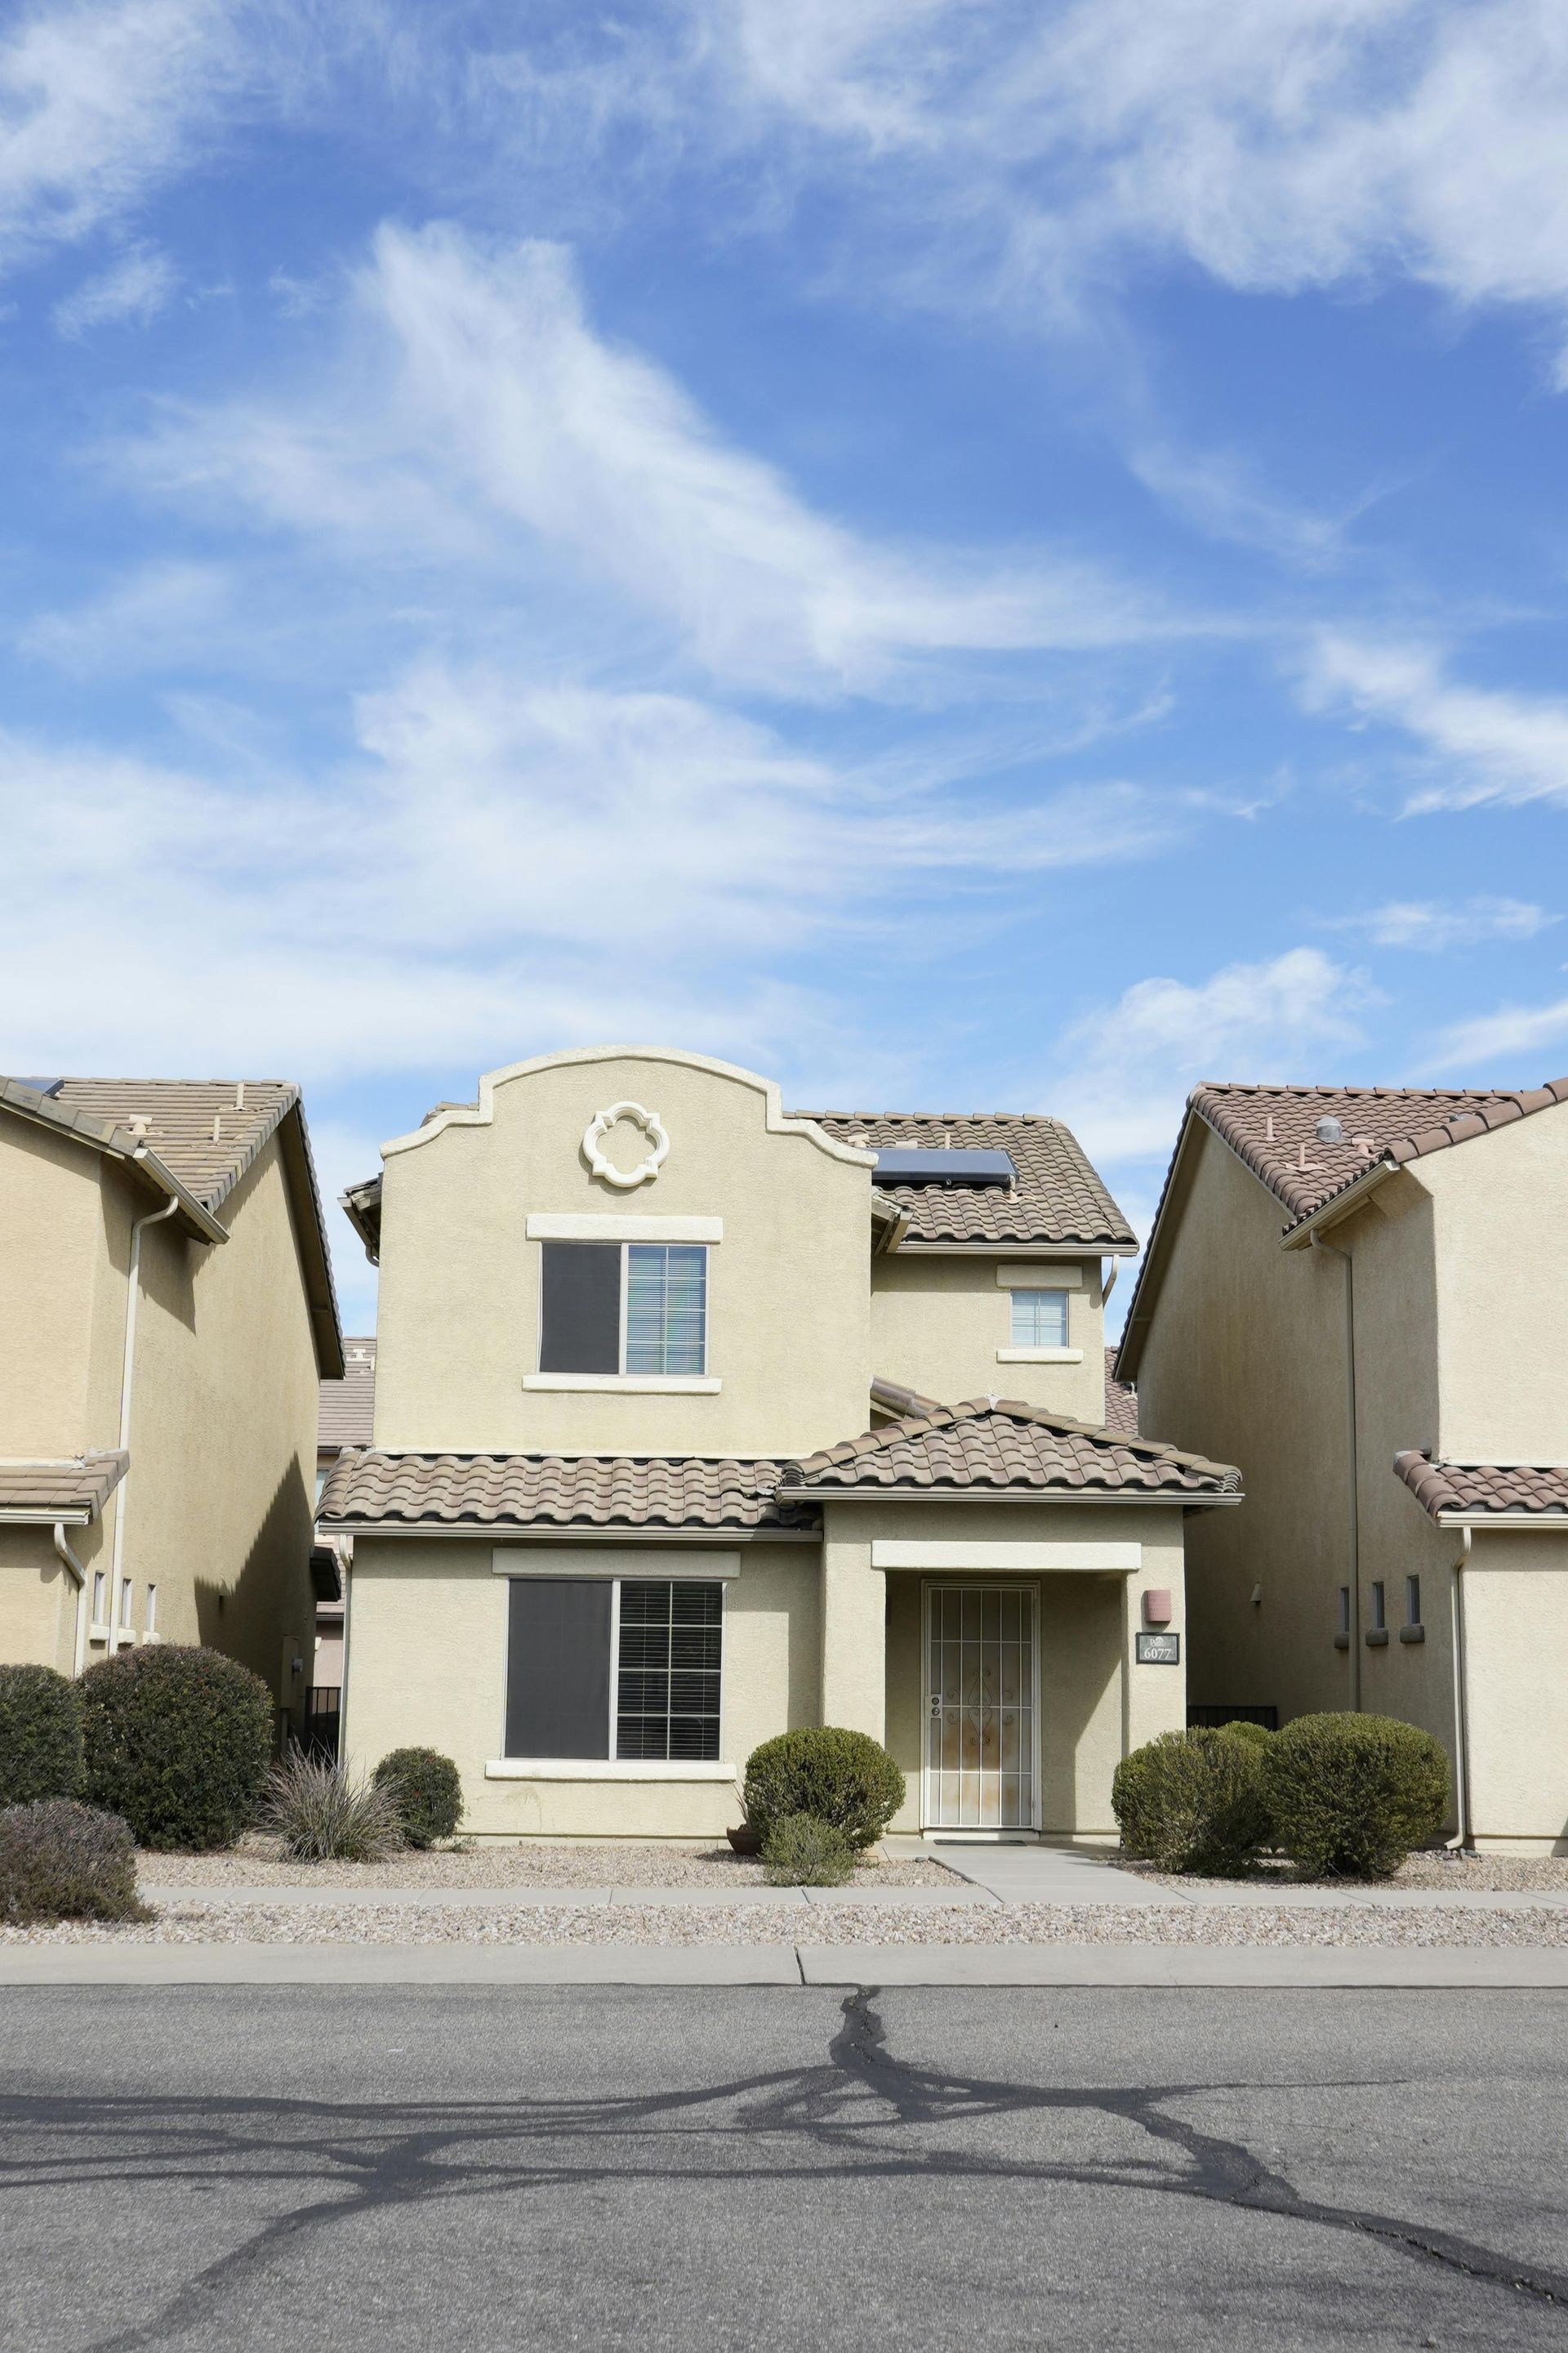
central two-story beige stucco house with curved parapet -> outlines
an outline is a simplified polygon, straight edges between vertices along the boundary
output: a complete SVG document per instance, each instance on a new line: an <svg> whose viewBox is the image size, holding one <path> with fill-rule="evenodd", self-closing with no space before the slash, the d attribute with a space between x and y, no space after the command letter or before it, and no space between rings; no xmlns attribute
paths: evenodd
<svg viewBox="0 0 1568 2353"><path fill-rule="evenodd" d="M1060 1122L545 1054L346 1207L381 1264L374 1447L320 1506L350 1762L447 1751L480 1838L715 1835L757 1741L835 1722L900 1760L903 1828L1112 1835L1237 1475L1103 1426L1135 1242Z"/></svg>

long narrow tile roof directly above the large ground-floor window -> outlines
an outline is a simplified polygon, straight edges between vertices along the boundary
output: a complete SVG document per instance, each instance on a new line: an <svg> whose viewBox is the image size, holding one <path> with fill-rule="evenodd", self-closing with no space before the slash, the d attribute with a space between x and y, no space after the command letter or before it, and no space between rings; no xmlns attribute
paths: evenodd
<svg viewBox="0 0 1568 2353"><path fill-rule="evenodd" d="M317 1522L395 1527L811 1527L783 1464L665 1454L339 1454Z"/></svg>

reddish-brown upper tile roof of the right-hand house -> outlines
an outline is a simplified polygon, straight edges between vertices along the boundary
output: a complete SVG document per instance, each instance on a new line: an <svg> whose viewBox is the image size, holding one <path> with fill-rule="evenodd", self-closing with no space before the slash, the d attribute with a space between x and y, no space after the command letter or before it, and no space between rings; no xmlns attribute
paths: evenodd
<svg viewBox="0 0 1568 2353"><path fill-rule="evenodd" d="M1204 1085L1192 1111L1267 1184L1291 1221L1382 1162L1422 1160L1533 1111L1568 1104L1568 1078L1544 1087L1232 1087ZM1342 1144L1319 1144L1316 1122L1338 1118ZM1366 1139L1366 1141L1359 1141Z"/></svg>

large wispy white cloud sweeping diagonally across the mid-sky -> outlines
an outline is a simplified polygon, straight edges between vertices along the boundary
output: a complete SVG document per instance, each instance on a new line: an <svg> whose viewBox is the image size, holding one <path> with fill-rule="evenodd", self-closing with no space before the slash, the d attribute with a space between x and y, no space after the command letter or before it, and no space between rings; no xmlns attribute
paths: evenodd
<svg viewBox="0 0 1568 2353"><path fill-rule="evenodd" d="M1004 567L818 513L592 327L562 247L496 249L449 226L381 228L327 391L169 414L118 461L357 558L517 569L522 539L712 675L795 694L1201 628L1063 551Z"/></svg>

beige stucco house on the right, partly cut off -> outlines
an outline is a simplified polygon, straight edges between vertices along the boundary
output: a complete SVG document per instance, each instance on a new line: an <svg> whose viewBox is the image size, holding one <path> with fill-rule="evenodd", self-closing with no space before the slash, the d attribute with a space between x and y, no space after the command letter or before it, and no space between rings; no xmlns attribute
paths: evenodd
<svg viewBox="0 0 1568 2353"><path fill-rule="evenodd" d="M1117 1372L1241 1466L1192 1699L1425 1725L1455 1831L1568 1852L1568 1080L1197 1087Z"/></svg>

